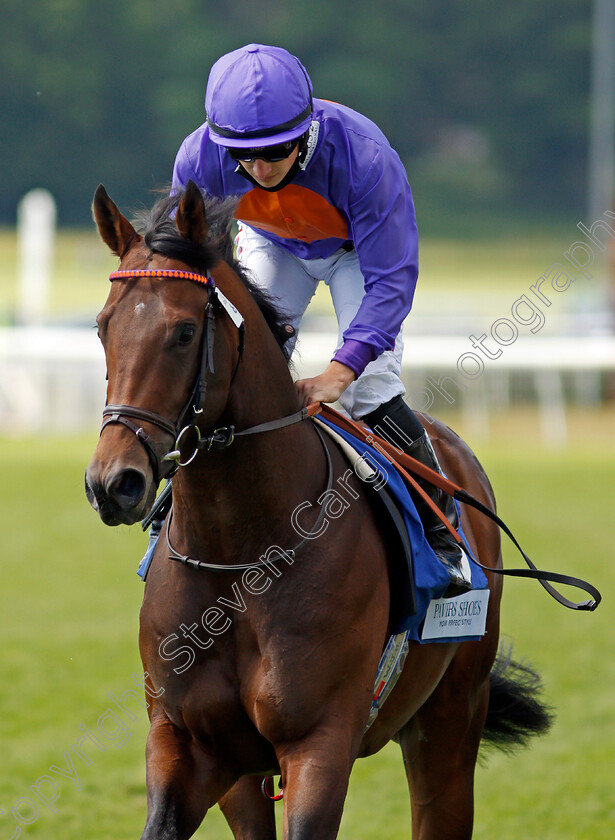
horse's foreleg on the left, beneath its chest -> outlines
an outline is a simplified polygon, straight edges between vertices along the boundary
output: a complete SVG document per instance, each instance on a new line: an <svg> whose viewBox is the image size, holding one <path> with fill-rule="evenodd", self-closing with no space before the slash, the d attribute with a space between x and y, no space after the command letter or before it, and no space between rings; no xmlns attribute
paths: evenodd
<svg viewBox="0 0 615 840"><path fill-rule="evenodd" d="M155 709L146 748L147 821L141 840L188 840L234 779Z"/></svg>

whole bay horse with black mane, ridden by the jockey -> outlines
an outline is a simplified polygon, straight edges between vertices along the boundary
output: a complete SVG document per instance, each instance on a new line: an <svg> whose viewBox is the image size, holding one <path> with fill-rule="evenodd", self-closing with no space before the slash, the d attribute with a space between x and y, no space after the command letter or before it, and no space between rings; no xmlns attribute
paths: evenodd
<svg viewBox="0 0 615 840"><path fill-rule="evenodd" d="M172 459L183 465L140 615L150 717L142 840L191 837L217 802L238 840L273 840L261 794L273 774L284 838L332 840L355 759L390 740L403 754L412 837L469 838L481 739L524 742L549 723L534 683L494 668L500 579L488 574L482 640L411 642L366 729L391 633L395 545L361 482L343 515L319 506L348 464L297 418L284 319L234 262L229 212L190 183L138 233L102 186L93 203L120 264L97 319L108 404L88 499L105 524L136 523ZM493 509L466 444L435 420L430 434L446 474ZM299 540L298 509L322 536ZM499 567L498 528L472 509L461 520L474 555Z"/></svg>

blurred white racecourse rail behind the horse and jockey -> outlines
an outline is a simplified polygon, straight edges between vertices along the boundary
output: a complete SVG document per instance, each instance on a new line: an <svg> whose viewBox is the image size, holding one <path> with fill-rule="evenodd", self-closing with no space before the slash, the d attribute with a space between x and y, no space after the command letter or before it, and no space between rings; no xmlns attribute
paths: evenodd
<svg viewBox="0 0 615 840"><path fill-rule="evenodd" d="M301 333L293 357L294 375L323 370L335 348L328 330ZM513 373L529 373L548 445L566 439L562 374L584 383L615 371L615 336L524 336L496 359L483 356L480 370L467 357L463 336L422 335L405 340L403 376L413 407L429 411L458 406L473 434L488 435L492 402L506 404ZM472 355L479 357L477 352ZM468 374L476 374L470 378ZM595 396L595 395L594 395ZM0 432L90 431L100 423L105 400L105 362L94 329L32 326L0 329ZM437 407L435 409L437 413Z"/></svg>

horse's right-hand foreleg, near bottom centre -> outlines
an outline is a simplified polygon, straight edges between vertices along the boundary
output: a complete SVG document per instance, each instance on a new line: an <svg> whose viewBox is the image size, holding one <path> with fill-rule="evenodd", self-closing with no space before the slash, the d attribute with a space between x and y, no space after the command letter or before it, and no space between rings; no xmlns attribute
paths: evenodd
<svg viewBox="0 0 615 840"><path fill-rule="evenodd" d="M348 733L319 729L278 750L284 785L284 840L337 837L356 746Z"/></svg>

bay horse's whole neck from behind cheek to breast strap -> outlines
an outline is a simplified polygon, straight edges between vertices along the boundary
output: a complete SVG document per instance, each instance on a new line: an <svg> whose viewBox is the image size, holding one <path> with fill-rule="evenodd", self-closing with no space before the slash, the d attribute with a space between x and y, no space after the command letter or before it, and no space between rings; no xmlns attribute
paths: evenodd
<svg viewBox="0 0 615 840"><path fill-rule="evenodd" d="M244 317L244 357L217 423L237 431L298 410L288 365L269 328L260 313ZM262 548L263 534L272 542L277 534L296 538L292 512L316 502L325 473L322 445L308 421L203 452L174 479L174 529L187 541L183 550L237 557Z"/></svg>

